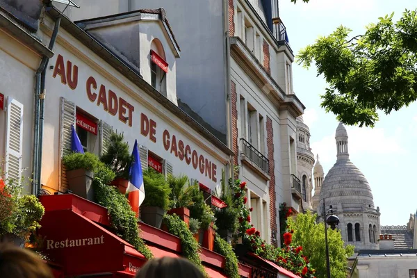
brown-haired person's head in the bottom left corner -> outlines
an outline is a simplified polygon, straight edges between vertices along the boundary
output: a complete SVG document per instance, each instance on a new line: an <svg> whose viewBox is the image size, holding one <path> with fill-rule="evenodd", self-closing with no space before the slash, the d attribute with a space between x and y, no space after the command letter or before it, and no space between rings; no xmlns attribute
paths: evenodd
<svg viewBox="0 0 417 278"><path fill-rule="evenodd" d="M0 244L1 278L54 278L38 255L10 244Z"/></svg>

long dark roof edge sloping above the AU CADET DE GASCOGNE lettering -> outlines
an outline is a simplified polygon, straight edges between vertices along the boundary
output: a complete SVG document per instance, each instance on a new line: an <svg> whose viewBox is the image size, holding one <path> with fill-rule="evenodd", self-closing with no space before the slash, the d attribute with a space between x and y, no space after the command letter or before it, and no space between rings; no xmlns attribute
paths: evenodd
<svg viewBox="0 0 417 278"><path fill-rule="evenodd" d="M194 120L192 117L190 117L186 112L184 112L181 108L173 104L169 99L167 99L164 95L161 94L161 92L158 92L152 85L147 83L145 80L142 79L142 76L136 72L131 66L127 65L120 59L118 56L116 56L110 49L108 49L106 46L101 44L98 40L93 38L91 35L89 35L87 32L83 31L82 28L77 26L74 22L72 22L68 17L63 15L63 13L60 13L60 11L56 8L48 8L47 14L51 18L60 17L61 22L60 26L65 29L68 33L70 33L76 40L79 40L81 43L83 43L86 47L91 49L95 54L97 54L99 57L104 59L106 63L111 65L115 68L118 72L123 74L127 79L135 83L138 87L140 87L145 93L147 93L149 96L154 98L156 101L158 101L164 108L167 109L167 111L170 111L174 115L177 115L183 122L188 124L192 129L200 133L206 140L210 141L215 145L215 147L218 147L224 154L228 154L231 156L234 156L234 152L229 149L222 141L220 141L218 138L213 136L212 133L210 133L207 129L205 129L201 124L199 124L196 120Z"/></svg>

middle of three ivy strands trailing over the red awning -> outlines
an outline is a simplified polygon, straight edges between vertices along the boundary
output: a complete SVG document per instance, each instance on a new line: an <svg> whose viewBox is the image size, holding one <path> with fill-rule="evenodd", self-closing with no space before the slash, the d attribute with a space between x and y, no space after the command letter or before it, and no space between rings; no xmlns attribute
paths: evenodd
<svg viewBox="0 0 417 278"><path fill-rule="evenodd" d="M181 239L181 247L183 255L192 263L198 266L199 270L204 273L205 277L208 277L202 260L199 257L199 245L197 240L193 237L186 222L183 222L176 214L163 216L163 222L167 225L168 231L174 236L178 236Z"/></svg>

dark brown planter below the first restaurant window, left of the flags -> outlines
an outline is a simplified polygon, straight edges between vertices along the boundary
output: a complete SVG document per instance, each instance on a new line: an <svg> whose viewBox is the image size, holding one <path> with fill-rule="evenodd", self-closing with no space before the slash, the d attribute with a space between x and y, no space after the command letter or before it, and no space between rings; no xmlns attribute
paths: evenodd
<svg viewBox="0 0 417 278"><path fill-rule="evenodd" d="M67 171L68 187L75 195L94 202L92 179L94 172L85 169Z"/></svg>

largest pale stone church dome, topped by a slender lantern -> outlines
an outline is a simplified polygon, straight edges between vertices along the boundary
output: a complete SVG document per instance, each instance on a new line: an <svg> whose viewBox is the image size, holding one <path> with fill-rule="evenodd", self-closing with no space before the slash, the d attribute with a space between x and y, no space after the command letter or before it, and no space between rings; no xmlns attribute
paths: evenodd
<svg viewBox="0 0 417 278"><path fill-rule="evenodd" d="M327 173L320 190L318 213L322 216L332 206L341 222L338 229L346 244L355 250L379 249L379 208L375 208L372 190L362 172L350 161L347 131L343 124L336 129L336 163Z"/></svg>

